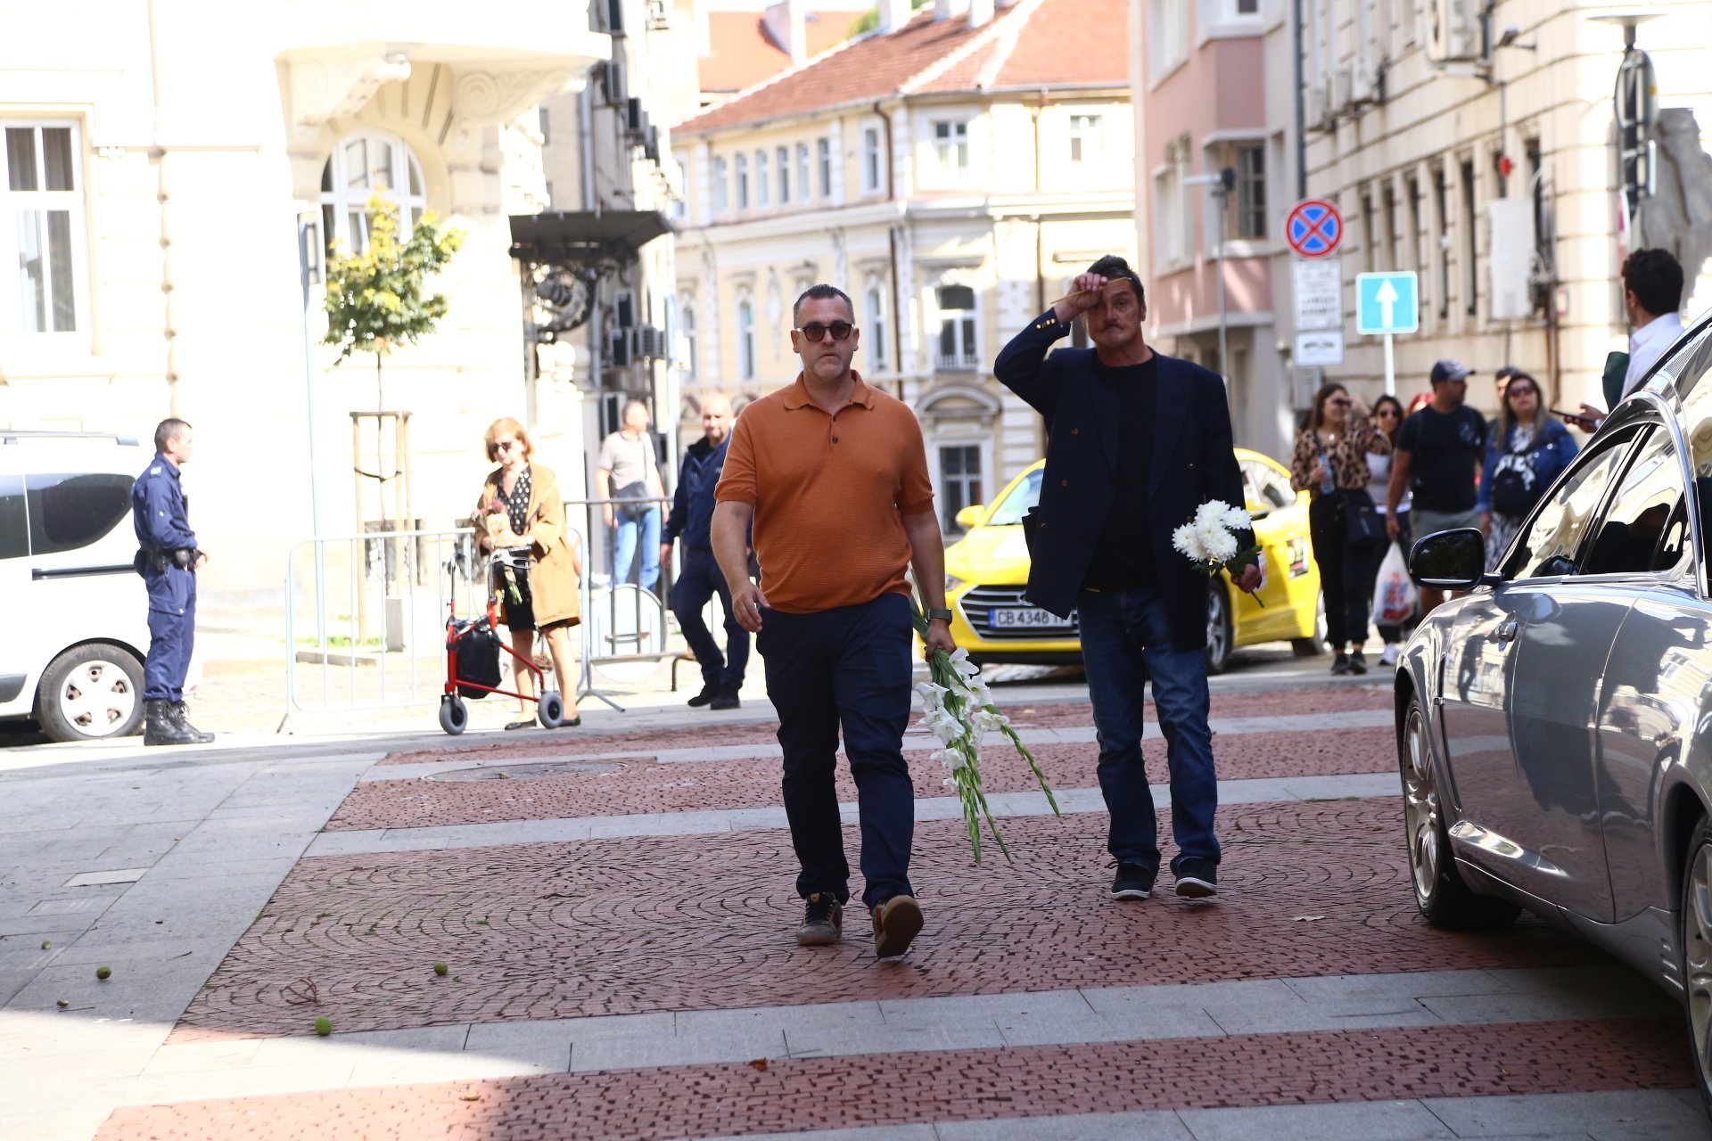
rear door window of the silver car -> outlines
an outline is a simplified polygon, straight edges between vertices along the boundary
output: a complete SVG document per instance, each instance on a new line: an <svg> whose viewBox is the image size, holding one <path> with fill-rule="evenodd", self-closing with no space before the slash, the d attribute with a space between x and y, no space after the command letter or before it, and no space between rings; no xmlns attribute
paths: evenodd
<svg viewBox="0 0 1712 1141"><path fill-rule="evenodd" d="M1686 491L1669 433L1654 431L1611 496L1587 544L1584 575L1673 570L1688 547Z"/></svg>

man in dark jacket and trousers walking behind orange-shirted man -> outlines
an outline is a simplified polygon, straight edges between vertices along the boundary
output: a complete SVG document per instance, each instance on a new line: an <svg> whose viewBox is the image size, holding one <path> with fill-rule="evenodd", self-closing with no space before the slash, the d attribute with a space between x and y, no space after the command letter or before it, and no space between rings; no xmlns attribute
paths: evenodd
<svg viewBox="0 0 1712 1141"><path fill-rule="evenodd" d="M671 612L678 616L678 630L683 631L683 640L690 643L690 652L702 667L702 691L690 698L690 705L734 710L738 689L743 686L743 667L748 665L748 631L731 612L731 588L719 573L709 539L714 486L719 484L719 470L726 465L726 443L731 438L731 402L722 395L714 393L702 400L702 431L705 435L683 453L678 493L671 503L671 518L666 520L659 561L669 563L673 541L683 539L683 570L678 571L678 582L671 588ZM714 594L726 607L726 653L719 653L714 635L702 621L702 609Z"/></svg>

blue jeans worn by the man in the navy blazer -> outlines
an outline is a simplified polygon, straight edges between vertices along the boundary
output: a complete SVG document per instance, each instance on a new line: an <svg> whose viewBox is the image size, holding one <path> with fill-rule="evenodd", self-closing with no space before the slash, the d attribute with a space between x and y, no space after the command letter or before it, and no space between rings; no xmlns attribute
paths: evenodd
<svg viewBox="0 0 1712 1141"><path fill-rule="evenodd" d="M1106 850L1125 864L1159 872L1159 823L1142 766L1142 683L1152 677L1154 706L1171 772L1171 833L1183 860L1219 862L1212 818L1219 778L1207 727L1207 655L1171 645L1159 590L1084 590L1077 599L1082 662L1099 736L1099 790L1111 813Z"/></svg>

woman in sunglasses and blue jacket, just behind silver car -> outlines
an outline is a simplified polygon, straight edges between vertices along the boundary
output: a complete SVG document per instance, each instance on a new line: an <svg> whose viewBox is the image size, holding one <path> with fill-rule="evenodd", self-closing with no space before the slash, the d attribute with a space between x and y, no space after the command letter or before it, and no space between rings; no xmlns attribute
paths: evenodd
<svg viewBox="0 0 1712 1141"><path fill-rule="evenodd" d="M1522 517L1575 457L1570 429L1546 412L1539 381L1513 373L1503 390L1496 431L1486 441L1476 510L1486 532L1486 570L1496 570Z"/></svg>

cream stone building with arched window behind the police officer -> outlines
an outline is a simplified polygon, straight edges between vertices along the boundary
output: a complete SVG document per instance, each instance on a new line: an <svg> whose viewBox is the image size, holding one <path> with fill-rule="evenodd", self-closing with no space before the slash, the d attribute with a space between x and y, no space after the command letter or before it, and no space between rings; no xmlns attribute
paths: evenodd
<svg viewBox="0 0 1712 1141"><path fill-rule="evenodd" d="M241 19L205 0L3 7L0 260L15 269L0 275L0 426L146 440L166 414L190 419L185 481L216 556L205 592L277 600L286 551L315 527L312 441L322 534L404 513L399 481L385 501L373 486L354 501L353 467L395 457L390 435L372 453L372 426L353 453L353 412L377 404L373 358L339 364L318 344L322 286L305 303L300 222L317 269L332 243L363 246L370 193L467 234L438 281L452 299L440 330L385 364L385 405L411 412L407 513L423 525L467 513L493 417L526 419L577 491L601 429L586 397L664 387L671 243L633 248L676 193L673 99L693 106L693 50L649 63L669 43L669 5L265 0ZM608 250L628 260L613 258L594 313L532 368L526 322L553 315L526 311L536 282L514 257L515 219L620 209L642 219ZM574 222L546 229L609 238ZM632 364L603 371L611 356L575 349L615 332L625 293Z"/></svg>

